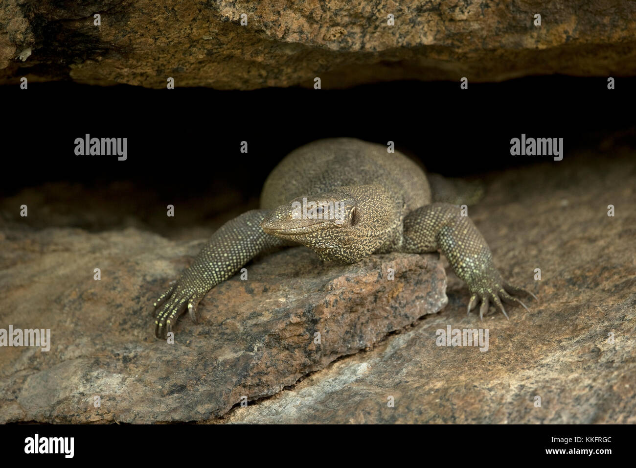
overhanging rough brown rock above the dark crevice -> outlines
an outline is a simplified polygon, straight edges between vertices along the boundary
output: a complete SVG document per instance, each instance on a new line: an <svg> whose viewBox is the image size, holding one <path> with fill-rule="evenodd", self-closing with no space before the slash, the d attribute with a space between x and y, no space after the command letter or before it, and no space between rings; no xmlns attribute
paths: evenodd
<svg viewBox="0 0 636 468"><path fill-rule="evenodd" d="M312 87L317 76L323 88L633 76L635 30L632 1L7 0L0 83L26 76L160 89L172 77L177 87L257 89Z"/></svg>

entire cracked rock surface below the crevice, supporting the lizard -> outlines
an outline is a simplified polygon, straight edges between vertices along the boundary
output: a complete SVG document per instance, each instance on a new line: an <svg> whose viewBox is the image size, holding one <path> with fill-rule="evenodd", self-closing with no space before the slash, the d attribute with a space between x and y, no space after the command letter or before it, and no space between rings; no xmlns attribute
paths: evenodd
<svg viewBox="0 0 636 468"><path fill-rule="evenodd" d="M0 421L636 423L633 148L608 143L484 181L469 214L501 273L539 295L529 313L466 316L466 287L448 273L448 305L418 319L445 302L434 256L343 267L297 248L219 285L199 325L179 322L174 345L153 337L148 302L204 235L43 229L39 216L90 227L96 205L64 213L43 187L1 200L0 328L50 327L53 348L0 348ZM23 199L28 224L10 216ZM394 281L379 277L389 264ZM488 328L488 351L436 346L448 325ZM230 409L241 395L247 408Z"/></svg>

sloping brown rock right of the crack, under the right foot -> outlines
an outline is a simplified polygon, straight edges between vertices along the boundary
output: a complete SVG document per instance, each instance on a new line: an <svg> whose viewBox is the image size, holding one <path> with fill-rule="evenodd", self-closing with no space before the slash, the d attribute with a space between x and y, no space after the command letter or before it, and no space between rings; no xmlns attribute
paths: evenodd
<svg viewBox="0 0 636 468"><path fill-rule="evenodd" d="M535 283L529 313L480 323L449 275L442 313L223 422L636 423L636 159L617 152L495 174L471 208L502 273ZM436 346L448 325L487 328L488 351Z"/></svg>

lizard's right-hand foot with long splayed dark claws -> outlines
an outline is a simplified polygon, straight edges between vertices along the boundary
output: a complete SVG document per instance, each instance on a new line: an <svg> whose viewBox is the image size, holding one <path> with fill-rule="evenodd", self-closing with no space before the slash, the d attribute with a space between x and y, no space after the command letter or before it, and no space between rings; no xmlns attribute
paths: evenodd
<svg viewBox="0 0 636 468"><path fill-rule="evenodd" d="M537 296L532 294L532 292L503 281L496 271L491 272L489 275L484 275L480 281L475 281L473 285L469 284L469 289L471 291L471 299L468 301L467 313L471 313L471 310L476 308L478 302L481 301L479 309L481 320L483 320L483 315L487 313L490 302L497 306L506 318L508 318L508 314L502 301L506 302L506 304L520 304L524 309L530 311L520 299L513 297L511 294L527 294L537 299Z"/></svg>

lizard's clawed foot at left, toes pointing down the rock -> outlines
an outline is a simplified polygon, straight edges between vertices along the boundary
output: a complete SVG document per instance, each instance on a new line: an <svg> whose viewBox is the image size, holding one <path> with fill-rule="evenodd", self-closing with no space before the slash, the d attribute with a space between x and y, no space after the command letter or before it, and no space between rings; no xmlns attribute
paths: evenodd
<svg viewBox="0 0 636 468"><path fill-rule="evenodd" d="M160 295L153 307L155 311L155 336L164 338L177 323L179 315L188 309L190 318L197 323L197 306L201 297L192 288L183 287L177 281L166 292Z"/></svg>

